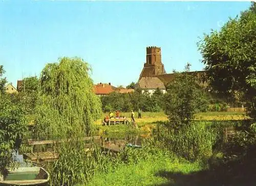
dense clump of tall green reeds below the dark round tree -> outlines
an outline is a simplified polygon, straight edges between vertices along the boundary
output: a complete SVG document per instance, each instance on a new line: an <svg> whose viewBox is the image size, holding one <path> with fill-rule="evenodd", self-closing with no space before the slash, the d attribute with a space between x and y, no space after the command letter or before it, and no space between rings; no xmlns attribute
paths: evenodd
<svg viewBox="0 0 256 186"><path fill-rule="evenodd" d="M190 125L180 126L179 130L169 124L158 125L154 137L160 141L160 146L168 147L177 156L193 161L209 157L217 140L215 130L203 122L190 122Z"/></svg>

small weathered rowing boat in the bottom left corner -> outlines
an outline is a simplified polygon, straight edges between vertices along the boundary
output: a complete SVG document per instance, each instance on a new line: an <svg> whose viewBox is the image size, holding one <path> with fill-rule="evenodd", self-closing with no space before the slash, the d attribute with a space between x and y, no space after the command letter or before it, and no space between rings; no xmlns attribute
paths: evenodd
<svg viewBox="0 0 256 186"><path fill-rule="evenodd" d="M20 167L11 169L4 178L0 176L0 185L47 185L49 173L41 167Z"/></svg>

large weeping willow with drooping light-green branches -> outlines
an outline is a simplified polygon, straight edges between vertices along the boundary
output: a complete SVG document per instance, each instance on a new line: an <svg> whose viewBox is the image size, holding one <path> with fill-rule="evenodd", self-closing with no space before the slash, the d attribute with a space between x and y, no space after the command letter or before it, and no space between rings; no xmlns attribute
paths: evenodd
<svg viewBox="0 0 256 186"><path fill-rule="evenodd" d="M100 116L101 102L93 93L88 63L80 58L60 58L47 64L39 79L36 138L89 136Z"/></svg>

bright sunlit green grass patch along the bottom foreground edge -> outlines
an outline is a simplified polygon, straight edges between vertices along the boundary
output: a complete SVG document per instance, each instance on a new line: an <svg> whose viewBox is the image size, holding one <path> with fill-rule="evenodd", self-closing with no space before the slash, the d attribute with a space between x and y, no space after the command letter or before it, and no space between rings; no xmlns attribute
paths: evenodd
<svg viewBox="0 0 256 186"><path fill-rule="evenodd" d="M177 160L159 157L140 161L138 164L120 165L116 170L110 170L108 173L96 173L94 178L86 185L168 185L174 183L175 180L164 177L162 175L164 172L189 174L201 169L202 167L198 163L180 163Z"/></svg>

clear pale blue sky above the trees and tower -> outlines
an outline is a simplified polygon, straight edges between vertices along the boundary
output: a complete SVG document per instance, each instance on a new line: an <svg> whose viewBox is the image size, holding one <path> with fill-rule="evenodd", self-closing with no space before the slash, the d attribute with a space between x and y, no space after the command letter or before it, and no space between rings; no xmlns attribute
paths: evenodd
<svg viewBox="0 0 256 186"><path fill-rule="evenodd" d="M159 46L167 73L202 70L198 37L220 30L250 2L0 1L0 65L17 79L59 57L80 57L94 83L137 82L146 46Z"/></svg>

